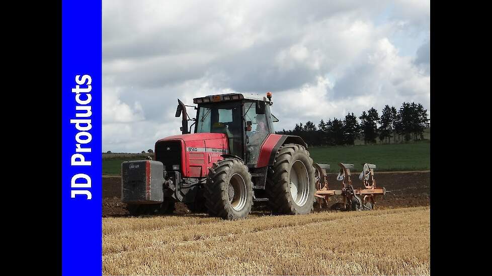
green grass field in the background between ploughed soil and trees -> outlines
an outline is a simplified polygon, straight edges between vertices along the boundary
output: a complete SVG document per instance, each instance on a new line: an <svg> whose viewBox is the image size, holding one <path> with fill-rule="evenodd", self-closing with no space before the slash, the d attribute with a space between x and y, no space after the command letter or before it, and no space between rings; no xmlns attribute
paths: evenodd
<svg viewBox="0 0 492 276"><path fill-rule="evenodd" d="M376 172L420 171L431 169L431 144L410 143L371 146L312 147L309 153L314 162L330 164L331 172L338 172L338 163L355 165L355 172L362 170L363 163L376 164ZM103 155L103 175L119 175L121 163L126 160L142 160L147 155Z"/></svg>

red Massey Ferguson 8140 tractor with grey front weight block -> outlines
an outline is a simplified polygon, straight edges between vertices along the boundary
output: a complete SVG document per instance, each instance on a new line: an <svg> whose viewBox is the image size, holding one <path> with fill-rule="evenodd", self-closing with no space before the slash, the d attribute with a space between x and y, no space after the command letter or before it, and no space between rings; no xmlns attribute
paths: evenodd
<svg viewBox="0 0 492 276"><path fill-rule="evenodd" d="M313 210L313 161L301 137L275 134L271 93L193 102L191 119L178 99L182 134L157 141L153 160L122 164L122 201L131 215L169 214L175 202L224 219L248 216L257 201L268 201L274 214Z"/></svg>

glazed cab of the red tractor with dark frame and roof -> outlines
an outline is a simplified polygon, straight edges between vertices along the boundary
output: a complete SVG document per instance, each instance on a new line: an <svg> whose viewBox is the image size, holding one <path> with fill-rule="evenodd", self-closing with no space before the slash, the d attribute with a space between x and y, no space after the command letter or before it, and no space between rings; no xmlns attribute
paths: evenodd
<svg viewBox="0 0 492 276"><path fill-rule="evenodd" d="M193 102L198 106L193 119L194 132L224 133L230 155L240 157L247 164L256 164L263 142L269 133L275 132L274 116L270 113L271 93L267 97L230 93L195 98ZM182 130L187 128L184 125Z"/></svg>

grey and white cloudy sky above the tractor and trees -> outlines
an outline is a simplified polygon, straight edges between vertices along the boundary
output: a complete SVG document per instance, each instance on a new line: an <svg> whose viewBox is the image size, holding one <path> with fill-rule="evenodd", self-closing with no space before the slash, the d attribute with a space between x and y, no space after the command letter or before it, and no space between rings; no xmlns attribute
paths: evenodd
<svg viewBox="0 0 492 276"><path fill-rule="evenodd" d="M430 113L430 79L429 0L103 1L104 152L180 133L178 97L272 91L278 130L403 101Z"/></svg>

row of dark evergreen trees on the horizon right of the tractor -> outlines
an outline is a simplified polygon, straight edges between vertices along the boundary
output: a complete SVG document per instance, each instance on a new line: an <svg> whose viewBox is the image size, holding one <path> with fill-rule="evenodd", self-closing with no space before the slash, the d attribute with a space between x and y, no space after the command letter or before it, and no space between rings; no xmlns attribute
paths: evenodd
<svg viewBox="0 0 492 276"><path fill-rule="evenodd" d="M386 105L381 116L371 107L358 118L360 122L353 112L349 112L343 119L321 119L317 127L307 121L305 124L296 123L292 130L282 129L275 133L301 136L312 146L335 146L354 145L359 138L363 138L365 144L374 144L377 139L381 143L391 143L391 140L393 143L424 140L424 130L430 127L427 109L415 102L403 102L399 110Z"/></svg>

